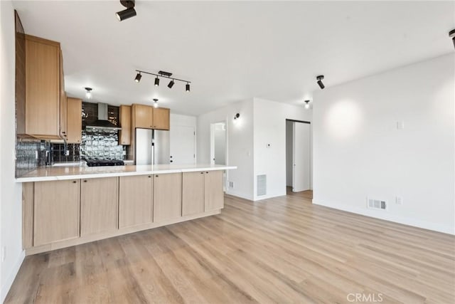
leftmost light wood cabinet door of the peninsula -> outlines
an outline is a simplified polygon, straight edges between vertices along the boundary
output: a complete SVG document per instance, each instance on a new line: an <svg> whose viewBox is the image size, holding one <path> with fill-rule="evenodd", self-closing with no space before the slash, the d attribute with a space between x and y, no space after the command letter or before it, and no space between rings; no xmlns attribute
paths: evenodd
<svg viewBox="0 0 455 304"><path fill-rule="evenodd" d="M36 182L33 246L79 237L80 180Z"/></svg>

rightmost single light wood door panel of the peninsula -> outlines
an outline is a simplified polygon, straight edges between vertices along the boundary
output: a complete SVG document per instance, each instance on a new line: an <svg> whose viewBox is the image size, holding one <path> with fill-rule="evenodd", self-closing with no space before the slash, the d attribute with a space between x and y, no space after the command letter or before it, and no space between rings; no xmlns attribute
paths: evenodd
<svg viewBox="0 0 455 304"><path fill-rule="evenodd" d="M224 207L223 170L205 172L205 211Z"/></svg>

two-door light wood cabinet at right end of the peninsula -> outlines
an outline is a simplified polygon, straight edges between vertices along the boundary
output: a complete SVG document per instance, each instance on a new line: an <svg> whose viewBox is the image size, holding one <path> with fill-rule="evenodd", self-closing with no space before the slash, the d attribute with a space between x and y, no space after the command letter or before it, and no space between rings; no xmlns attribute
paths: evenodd
<svg viewBox="0 0 455 304"><path fill-rule="evenodd" d="M223 206L223 171L183 173L183 216L222 209Z"/></svg>

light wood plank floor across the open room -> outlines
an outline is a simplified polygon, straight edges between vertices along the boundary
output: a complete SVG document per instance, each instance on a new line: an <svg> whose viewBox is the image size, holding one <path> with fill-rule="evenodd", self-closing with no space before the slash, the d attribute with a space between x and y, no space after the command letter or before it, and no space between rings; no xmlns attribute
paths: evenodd
<svg viewBox="0 0 455 304"><path fill-rule="evenodd" d="M453 236L310 201L227 196L218 216L29 256L6 303L455 303Z"/></svg>

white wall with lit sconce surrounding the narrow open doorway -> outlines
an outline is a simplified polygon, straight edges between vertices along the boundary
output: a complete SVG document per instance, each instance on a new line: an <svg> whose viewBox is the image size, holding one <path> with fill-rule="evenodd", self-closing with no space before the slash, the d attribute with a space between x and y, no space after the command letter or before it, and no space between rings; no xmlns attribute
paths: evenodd
<svg viewBox="0 0 455 304"><path fill-rule="evenodd" d="M235 113L240 119L234 120ZM228 164L237 166L228 170L228 181L234 182L234 187L228 187L227 193L253 199L253 100L198 116L198 162L210 164L210 124L221 121L226 121Z"/></svg>

